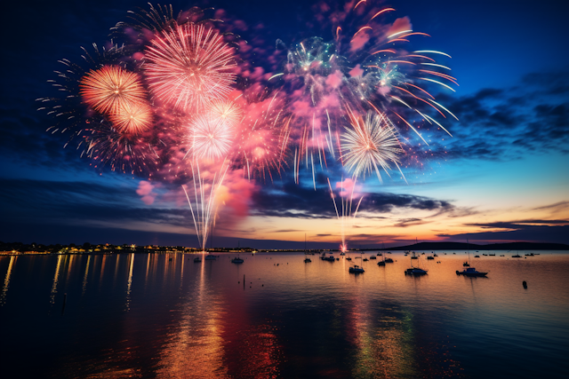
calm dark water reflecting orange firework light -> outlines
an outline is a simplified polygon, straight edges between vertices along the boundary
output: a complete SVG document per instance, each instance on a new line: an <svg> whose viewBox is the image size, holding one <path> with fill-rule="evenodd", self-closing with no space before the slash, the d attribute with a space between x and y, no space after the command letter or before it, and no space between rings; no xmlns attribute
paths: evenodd
<svg viewBox="0 0 569 379"><path fill-rule="evenodd" d="M0 376L566 377L569 254L444 253L0 257Z"/></svg>

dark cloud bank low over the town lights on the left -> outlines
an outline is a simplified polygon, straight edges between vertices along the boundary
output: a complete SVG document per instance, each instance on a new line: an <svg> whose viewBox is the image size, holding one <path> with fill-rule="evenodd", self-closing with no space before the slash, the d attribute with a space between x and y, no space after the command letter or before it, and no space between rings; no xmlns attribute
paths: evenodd
<svg viewBox="0 0 569 379"><path fill-rule="evenodd" d="M63 226L80 220L100 227L132 222L188 226L191 218L183 207L148 208L135 188L110 183L1 179L0 208L3 223Z"/></svg>

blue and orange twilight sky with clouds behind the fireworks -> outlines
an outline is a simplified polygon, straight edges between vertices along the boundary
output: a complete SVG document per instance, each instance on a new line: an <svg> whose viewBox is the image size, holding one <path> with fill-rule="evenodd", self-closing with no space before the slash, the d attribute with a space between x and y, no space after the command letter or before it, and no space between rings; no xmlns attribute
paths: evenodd
<svg viewBox="0 0 569 379"><path fill-rule="evenodd" d="M328 4L337 4L327 2ZM314 14L320 2L173 2L226 11L244 35L263 26L275 46L308 36L332 39ZM460 87L437 94L460 122L453 133L430 133L431 151L398 175L365 178L365 197L349 246L420 241L549 241L569 243L569 4L529 1L393 1L395 18L429 33L413 48L445 51ZM515 4L515 5L514 5ZM67 138L45 130L36 112L50 96L57 60L80 59L81 46L108 41L108 28L143 1L12 2L2 14L0 94L0 241L136 243L197 246L188 204L178 186L93 169ZM391 21L393 21L391 20ZM430 154L432 152L432 154ZM337 247L340 224L327 177L292 170L271 183L253 182L246 204L220 205L214 246ZM137 193L138 190L138 193ZM144 190L148 190L145 193ZM142 195L140 194L142 193ZM143 195L149 197L143 199ZM235 200L234 200L235 201ZM150 203L151 202L151 203ZM246 215L245 215L246 214ZM301 241L292 243L290 241Z"/></svg>

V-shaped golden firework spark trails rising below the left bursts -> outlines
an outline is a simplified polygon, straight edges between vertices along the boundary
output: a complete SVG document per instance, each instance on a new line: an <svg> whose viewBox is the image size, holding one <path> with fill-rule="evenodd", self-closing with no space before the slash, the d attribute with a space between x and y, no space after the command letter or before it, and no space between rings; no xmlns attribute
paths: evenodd
<svg viewBox="0 0 569 379"><path fill-rule="evenodd" d="M205 251L205 245L209 236L210 227L215 224L215 217L217 215L216 195L220 189L223 179L228 171L228 164L223 162L219 172L213 175L212 182L206 183L205 178L202 178L199 162L194 161L190 163L194 184L195 203L192 206L192 201L189 199L188 191L185 186L181 186L186 194L189 209L194 219L194 226L196 227L196 236L199 246L202 251ZM197 180L196 180L197 179ZM210 187L209 191L207 187Z"/></svg>

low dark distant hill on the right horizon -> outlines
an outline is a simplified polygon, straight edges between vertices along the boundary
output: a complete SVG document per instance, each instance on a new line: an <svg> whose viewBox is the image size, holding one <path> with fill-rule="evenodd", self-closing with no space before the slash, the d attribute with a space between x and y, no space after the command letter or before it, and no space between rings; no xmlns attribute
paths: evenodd
<svg viewBox="0 0 569 379"><path fill-rule="evenodd" d="M509 242L477 245L463 242L420 242L381 250L569 250L565 243Z"/></svg>

